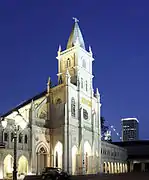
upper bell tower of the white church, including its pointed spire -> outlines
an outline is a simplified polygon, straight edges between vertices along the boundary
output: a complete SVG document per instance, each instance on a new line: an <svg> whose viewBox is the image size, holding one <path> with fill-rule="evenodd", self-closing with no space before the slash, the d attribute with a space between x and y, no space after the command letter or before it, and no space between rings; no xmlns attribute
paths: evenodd
<svg viewBox="0 0 149 180"><path fill-rule="evenodd" d="M81 90L85 93L92 92L92 50L86 50L85 42L79 27L79 20L74 19L74 25L70 33L66 49L58 49L58 82L65 81L66 70L71 76L71 83L77 85L79 79Z"/></svg>

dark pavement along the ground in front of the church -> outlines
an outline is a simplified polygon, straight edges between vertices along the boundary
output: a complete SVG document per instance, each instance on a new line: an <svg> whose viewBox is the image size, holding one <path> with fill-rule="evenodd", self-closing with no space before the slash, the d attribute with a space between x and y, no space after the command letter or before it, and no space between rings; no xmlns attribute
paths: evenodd
<svg viewBox="0 0 149 180"><path fill-rule="evenodd" d="M125 174L96 174L71 176L71 180L149 180L149 172L125 173ZM24 180L42 180L41 176L30 175Z"/></svg>

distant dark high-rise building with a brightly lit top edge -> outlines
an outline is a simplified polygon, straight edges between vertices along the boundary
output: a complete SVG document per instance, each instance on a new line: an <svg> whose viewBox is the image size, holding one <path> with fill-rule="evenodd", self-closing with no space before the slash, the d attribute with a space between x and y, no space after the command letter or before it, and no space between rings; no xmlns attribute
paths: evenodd
<svg viewBox="0 0 149 180"><path fill-rule="evenodd" d="M122 122L122 141L139 139L139 121L137 118L124 118Z"/></svg>

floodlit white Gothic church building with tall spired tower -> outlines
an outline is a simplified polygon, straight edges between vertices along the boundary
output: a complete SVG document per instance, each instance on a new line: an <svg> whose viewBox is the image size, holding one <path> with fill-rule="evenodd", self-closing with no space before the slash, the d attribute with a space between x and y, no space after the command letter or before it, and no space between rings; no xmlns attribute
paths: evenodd
<svg viewBox="0 0 149 180"><path fill-rule="evenodd" d="M66 49L58 49L57 60L58 85L52 87L49 78L44 92L1 116L7 126L0 127L0 178L12 175L13 127L18 111L27 124L17 132L18 176L40 174L46 166L70 174L126 172L126 150L101 142L100 93L93 89L94 58L91 47L85 48L77 19ZM108 149L109 154L102 149ZM110 155L115 151L117 158Z"/></svg>

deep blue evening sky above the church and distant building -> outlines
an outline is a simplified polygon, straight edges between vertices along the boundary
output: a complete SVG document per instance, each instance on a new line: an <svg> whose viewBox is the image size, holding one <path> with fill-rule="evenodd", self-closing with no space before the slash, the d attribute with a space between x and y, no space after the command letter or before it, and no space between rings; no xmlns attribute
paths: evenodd
<svg viewBox="0 0 149 180"><path fill-rule="evenodd" d="M120 131L121 118L137 117L149 138L148 8L148 0L1 0L0 112L42 92L48 76L57 81L58 45L65 49L75 16L105 119Z"/></svg>

